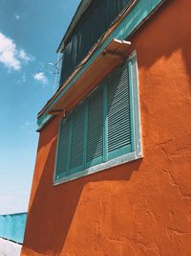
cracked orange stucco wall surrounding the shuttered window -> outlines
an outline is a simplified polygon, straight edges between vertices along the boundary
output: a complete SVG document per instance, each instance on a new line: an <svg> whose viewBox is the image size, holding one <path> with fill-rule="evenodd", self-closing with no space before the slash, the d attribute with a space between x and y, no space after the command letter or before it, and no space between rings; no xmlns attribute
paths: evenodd
<svg viewBox="0 0 191 256"><path fill-rule="evenodd" d="M22 255L191 255L191 1L167 1L138 51L141 160L53 186L58 118L40 133Z"/></svg>

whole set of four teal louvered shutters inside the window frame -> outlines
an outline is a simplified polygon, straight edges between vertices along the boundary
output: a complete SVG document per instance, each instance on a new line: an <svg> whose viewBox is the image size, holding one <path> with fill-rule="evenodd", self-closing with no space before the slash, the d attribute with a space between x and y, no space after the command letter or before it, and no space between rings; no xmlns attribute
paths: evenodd
<svg viewBox="0 0 191 256"><path fill-rule="evenodd" d="M61 122L55 178L134 151L129 65L119 67Z"/></svg>

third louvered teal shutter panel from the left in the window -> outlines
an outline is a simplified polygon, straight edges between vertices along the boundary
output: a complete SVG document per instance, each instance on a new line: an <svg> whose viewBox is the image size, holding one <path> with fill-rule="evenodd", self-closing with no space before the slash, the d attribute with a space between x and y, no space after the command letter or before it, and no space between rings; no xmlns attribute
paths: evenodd
<svg viewBox="0 0 191 256"><path fill-rule="evenodd" d="M88 103L88 167L102 162L103 155L103 90L99 89Z"/></svg>

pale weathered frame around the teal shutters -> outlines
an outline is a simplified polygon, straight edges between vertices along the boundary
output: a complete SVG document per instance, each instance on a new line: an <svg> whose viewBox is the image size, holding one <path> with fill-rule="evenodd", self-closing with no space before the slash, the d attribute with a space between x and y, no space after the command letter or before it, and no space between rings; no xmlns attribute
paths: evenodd
<svg viewBox="0 0 191 256"><path fill-rule="evenodd" d="M58 185L61 183L65 183L76 178L92 175L100 171L104 171L106 169L116 167L117 165L121 165L142 157L141 151L141 128L140 128L140 111L139 111L139 93L138 93L138 61L137 61L137 52L134 51L129 58L126 59L126 63L128 62L129 68L129 86L130 86L130 98L131 98L131 131L132 131L132 151L117 156L115 158L109 159L106 162L99 163L95 166L86 168L82 171L76 172L74 174L63 176L63 177L56 177L56 170L57 170L57 157L58 157L58 149L59 149L59 134L61 129L61 122L59 124L59 133L57 138L57 147L56 147L56 154L55 154L55 164L54 164L54 172L53 172L53 185ZM114 71L115 72L115 71ZM104 84L104 80L101 82ZM102 85L101 85L102 86ZM96 91L97 87L90 93L93 94ZM87 98L87 97L86 97ZM86 100L84 99L84 101ZM83 105L84 101L82 101L79 105ZM74 112L72 110L71 112ZM69 116L67 118L70 117Z"/></svg>

